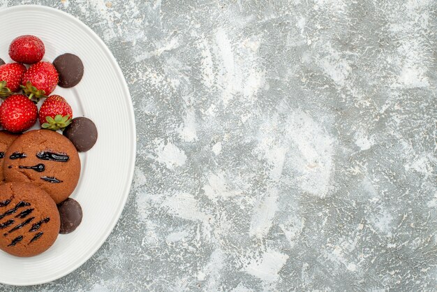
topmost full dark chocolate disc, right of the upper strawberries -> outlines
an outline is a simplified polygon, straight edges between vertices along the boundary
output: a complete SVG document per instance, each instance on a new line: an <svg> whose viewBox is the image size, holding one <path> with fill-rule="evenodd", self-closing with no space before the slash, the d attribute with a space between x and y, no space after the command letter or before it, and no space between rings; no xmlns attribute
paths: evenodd
<svg viewBox="0 0 437 292"><path fill-rule="evenodd" d="M53 61L53 66L59 73L58 85L70 88L82 80L84 75L84 64L75 54L61 54Z"/></svg>

